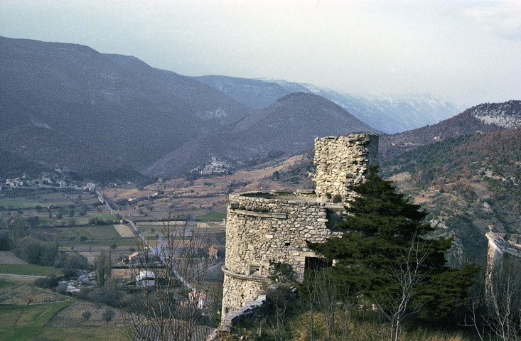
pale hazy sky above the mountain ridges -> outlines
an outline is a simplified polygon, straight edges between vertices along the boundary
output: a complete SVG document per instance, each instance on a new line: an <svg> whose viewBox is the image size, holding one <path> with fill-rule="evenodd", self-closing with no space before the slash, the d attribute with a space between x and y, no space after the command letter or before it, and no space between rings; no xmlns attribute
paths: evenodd
<svg viewBox="0 0 521 341"><path fill-rule="evenodd" d="M79 43L181 75L521 99L521 1L0 0L0 36Z"/></svg>

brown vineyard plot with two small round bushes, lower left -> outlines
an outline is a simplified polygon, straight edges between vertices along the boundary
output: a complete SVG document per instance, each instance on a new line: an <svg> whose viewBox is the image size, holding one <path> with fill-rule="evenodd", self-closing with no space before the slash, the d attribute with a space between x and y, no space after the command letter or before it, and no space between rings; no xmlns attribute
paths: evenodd
<svg viewBox="0 0 521 341"><path fill-rule="evenodd" d="M107 323L102 314L105 310L114 310L114 318ZM85 311L92 314L88 320L82 317ZM122 313L119 310L110 308L107 305L97 305L92 302L75 301L67 308L61 310L58 314L50 319L48 328L64 328L64 327L123 327Z"/></svg>

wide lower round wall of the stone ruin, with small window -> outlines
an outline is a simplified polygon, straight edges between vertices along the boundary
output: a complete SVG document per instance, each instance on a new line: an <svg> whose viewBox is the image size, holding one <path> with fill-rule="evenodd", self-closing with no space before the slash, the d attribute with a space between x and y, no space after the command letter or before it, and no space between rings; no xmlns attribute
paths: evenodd
<svg viewBox="0 0 521 341"><path fill-rule="evenodd" d="M273 263L291 265L302 278L306 256L317 256L306 241L323 242L333 234L326 216L325 203L298 195L230 195L222 320L264 291Z"/></svg>

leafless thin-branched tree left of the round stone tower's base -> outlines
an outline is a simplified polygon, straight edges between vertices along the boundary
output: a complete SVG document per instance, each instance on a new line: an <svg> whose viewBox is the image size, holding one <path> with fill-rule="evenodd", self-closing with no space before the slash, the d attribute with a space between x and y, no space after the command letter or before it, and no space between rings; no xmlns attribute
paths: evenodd
<svg viewBox="0 0 521 341"><path fill-rule="evenodd" d="M204 340L210 332L198 326L215 313L204 289L210 240L197 226L170 221L168 215L156 247L146 240L138 246L141 258L132 266L136 279L155 278L136 280L129 295L124 320L136 340Z"/></svg>

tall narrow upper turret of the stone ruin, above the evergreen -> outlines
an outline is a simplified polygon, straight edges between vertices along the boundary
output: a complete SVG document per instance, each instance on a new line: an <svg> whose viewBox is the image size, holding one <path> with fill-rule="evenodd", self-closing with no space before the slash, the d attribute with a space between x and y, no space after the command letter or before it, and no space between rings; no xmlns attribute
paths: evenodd
<svg viewBox="0 0 521 341"><path fill-rule="evenodd" d="M350 187L362 182L367 168L377 163L378 136L353 134L315 139L316 182L319 200L330 201L341 195L346 202L353 191Z"/></svg>

